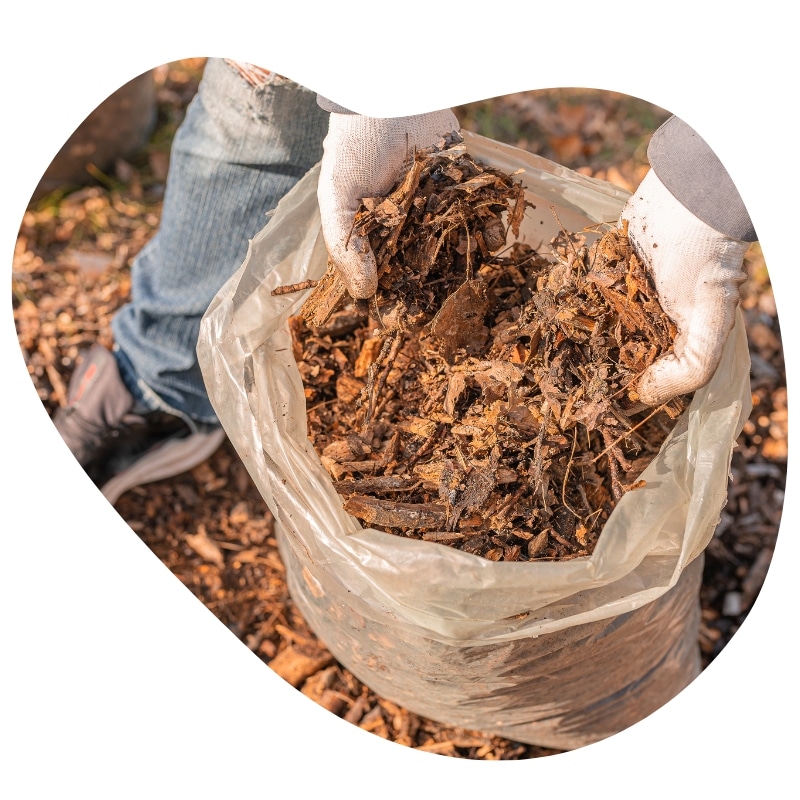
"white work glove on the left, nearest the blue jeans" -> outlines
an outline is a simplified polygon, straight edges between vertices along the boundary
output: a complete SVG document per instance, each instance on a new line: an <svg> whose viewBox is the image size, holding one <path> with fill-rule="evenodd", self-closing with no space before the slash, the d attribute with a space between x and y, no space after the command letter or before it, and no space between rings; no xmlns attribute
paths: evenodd
<svg viewBox="0 0 800 800"><path fill-rule="evenodd" d="M387 194L415 151L453 132L460 127L449 109L392 119L331 113L317 198L328 255L354 298L378 288L369 242L352 232L362 198Z"/></svg>

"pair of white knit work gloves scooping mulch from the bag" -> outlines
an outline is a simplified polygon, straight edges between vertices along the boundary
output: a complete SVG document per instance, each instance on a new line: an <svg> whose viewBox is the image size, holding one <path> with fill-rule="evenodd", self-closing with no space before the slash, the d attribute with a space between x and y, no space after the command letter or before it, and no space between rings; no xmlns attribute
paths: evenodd
<svg viewBox="0 0 800 800"><path fill-rule="evenodd" d="M409 154L459 130L450 110L394 119L332 113L319 183L328 252L354 298L377 288L369 242L352 235L361 199L386 194ZM674 350L639 381L639 397L658 405L705 385L733 327L747 242L717 232L691 214L651 170L620 221L649 269L661 304L678 328Z"/></svg>

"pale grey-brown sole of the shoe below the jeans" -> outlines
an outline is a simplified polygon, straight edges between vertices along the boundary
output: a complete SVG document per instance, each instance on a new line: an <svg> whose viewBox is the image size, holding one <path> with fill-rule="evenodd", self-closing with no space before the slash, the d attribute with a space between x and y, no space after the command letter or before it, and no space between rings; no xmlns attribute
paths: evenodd
<svg viewBox="0 0 800 800"><path fill-rule="evenodd" d="M225 431L194 433L171 439L107 481L100 491L111 505L128 490L145 483L173 478L210 458L225 439Z"/></svg>

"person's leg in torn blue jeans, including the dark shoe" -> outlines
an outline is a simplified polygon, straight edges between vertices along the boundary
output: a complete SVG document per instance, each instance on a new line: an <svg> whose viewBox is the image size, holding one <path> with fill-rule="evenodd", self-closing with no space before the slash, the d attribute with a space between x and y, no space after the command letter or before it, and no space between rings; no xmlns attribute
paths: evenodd
<svg viewBox="0 0 800 800"><path fill-rule="evenodd" d="M213 59L173 143L161 225L132 268L132 299L112 320L114 355L84 355L54 422L113 503L219 446L196 345L200 320L267 212L322 156L316 95Z"/></svg>

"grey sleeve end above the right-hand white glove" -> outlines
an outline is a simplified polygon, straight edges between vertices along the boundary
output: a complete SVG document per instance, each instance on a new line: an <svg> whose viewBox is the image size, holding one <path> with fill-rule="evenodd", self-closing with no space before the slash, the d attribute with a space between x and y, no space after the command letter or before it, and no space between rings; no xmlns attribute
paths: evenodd
<svg viewBox="0 0 800 800"><path fill-rule="evenodd" d="M758 239L736 186L714 151L678 117L670 117L647 149L650 166L698 219L740 242Z"/></svg>

